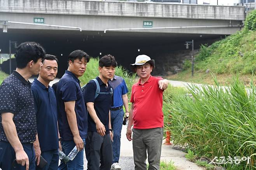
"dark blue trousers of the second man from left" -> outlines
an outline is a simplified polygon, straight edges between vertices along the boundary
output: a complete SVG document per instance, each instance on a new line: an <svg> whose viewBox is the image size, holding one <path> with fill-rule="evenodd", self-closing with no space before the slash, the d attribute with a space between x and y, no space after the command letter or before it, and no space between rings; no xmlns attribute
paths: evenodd
<svg viewBox="0 0 256 170"><path fill-rule="evenodd" d="M36 167L37 170L57 170L59 165L58 149L43 151L41 156L47 161L44 168Z"/></svg>

